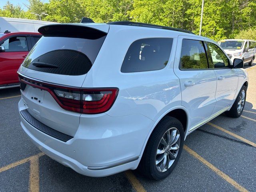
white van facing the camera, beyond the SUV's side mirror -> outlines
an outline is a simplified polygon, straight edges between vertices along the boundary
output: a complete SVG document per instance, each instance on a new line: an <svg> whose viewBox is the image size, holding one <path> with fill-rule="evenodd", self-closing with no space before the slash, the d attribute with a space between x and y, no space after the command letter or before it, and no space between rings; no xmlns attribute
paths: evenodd
<svg viewBox="0 0 256 192"><path fill-rule="evenodd" d="M248 39L225 39L219 41L220 46L233 62L234 58L244 60L252 66L256 53L256 41Z"/></svg>

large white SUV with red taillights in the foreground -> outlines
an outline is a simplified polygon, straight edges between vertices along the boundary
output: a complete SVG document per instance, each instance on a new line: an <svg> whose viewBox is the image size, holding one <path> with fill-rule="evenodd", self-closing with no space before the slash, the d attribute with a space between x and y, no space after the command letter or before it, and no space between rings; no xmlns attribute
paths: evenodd
<svg viewBox="0 0 256 192"><path fill-rule="evenodd" d="M242 114L243 61L232 64L213 40L134 22L38 31L43 37L18 70L21 126L40 150L80 174L139 167L165 178L188 134L223 112Z"/></svg>

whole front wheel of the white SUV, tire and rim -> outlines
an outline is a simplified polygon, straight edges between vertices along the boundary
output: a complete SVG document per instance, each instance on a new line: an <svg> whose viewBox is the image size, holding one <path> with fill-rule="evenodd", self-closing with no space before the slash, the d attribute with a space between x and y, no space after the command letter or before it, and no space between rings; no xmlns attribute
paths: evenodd
<svg viewBox="0 0 256 192"><path fill-rule="evenodd" d="M226 115L230 117L240 117L244 110L244 104L246 101L246 86L242 86L234 104L229 111L226 111Z"/></svg>

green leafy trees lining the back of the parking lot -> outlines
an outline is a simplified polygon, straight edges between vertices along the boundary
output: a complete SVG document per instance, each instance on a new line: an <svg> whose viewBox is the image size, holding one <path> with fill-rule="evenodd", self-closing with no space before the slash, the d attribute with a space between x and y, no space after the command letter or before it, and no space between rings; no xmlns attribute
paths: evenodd
<svg viewBox="0 0 256 192"><path fill-rule="evenodd" d="M199 33L202 0L28 0L27 11L9 1L0 16L53 22L80 22L89 17L95 22L132 20L172 26ZM214 40L234 38L256 27L256 0L205 0L202 36ZM249 30L250 31L250 30ZM252 36L254 39L255 37Z"/></svg>

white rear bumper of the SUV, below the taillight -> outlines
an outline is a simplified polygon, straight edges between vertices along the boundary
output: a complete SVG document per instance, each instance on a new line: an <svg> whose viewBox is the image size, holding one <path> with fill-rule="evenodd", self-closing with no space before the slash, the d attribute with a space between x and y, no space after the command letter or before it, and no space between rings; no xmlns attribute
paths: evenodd
<svg viewBox="0 0 256 192"><path fill-rule="evenodd" d="M25 109L22 99L18 105L19 111ZM24 132L42 152L78 173L92 177L108 176L124 170L136 169L153 123L152 120L141 115L118 118L104 114L96 115L93 121L81 117L80 126L74 138L63 142L36 129L21 114L20 118ZM140 121L137 127L134 127L134 120ZM127 124L129 121L132 122L132 126ZM85 122L89 123L90 130L83 125ZM103 130L99 130L100 122ZM112 122L124 123L118 126L119 132L112 127Z"/></svg>

